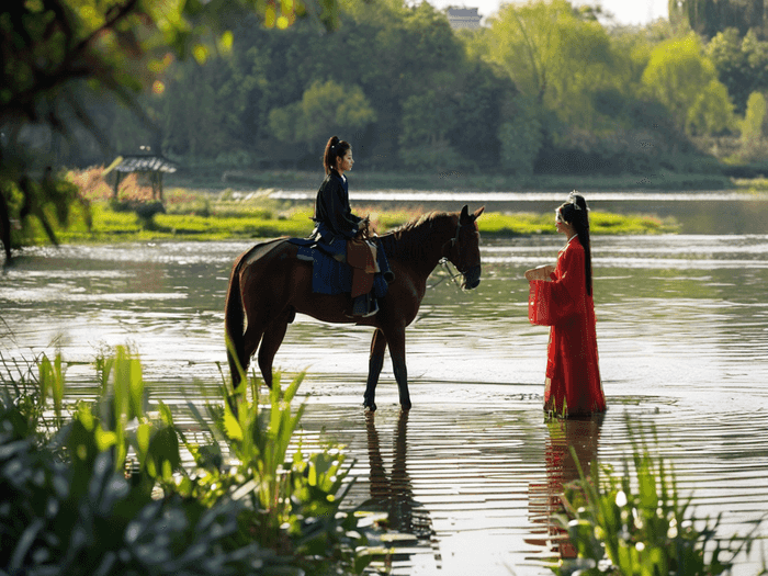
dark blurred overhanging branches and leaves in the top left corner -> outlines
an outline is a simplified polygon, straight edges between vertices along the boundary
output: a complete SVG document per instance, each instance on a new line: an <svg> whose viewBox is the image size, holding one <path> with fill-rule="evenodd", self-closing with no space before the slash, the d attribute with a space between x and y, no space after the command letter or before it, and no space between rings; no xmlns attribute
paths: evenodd
<svg viewBox="0 0 768 576"><path fill-rule="evenodd" d="M60 194L33 193L32 162L20 142L24 125L43 125L63 137L84 127L104 146L109 138L89 112L88 100L109 93L145 117L136 98L145 87L162 93L159 76L174 57L205 63L233 43L229 27L245 11L266 27L287 29L314 13L326 27L337 23L335 0L316 3L233 0L156 2L154 0L30 0L0 9L0 240L11 257L11 217L35 216L52 229L46 203L66 214ZM151 118L147 118L151 120ZM47 178L50 178L49 176ZM21 208L11 213L12 196ZM55 241L52 235L50 239Z"/></svg>

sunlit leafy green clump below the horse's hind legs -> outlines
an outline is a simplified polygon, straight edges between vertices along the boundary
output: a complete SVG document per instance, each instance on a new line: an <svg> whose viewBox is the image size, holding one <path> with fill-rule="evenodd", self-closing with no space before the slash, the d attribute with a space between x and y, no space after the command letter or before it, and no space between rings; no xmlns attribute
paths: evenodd
<svg viewBox="0 0 768 576"><path fill-rule="evenodd" d="M245 505L240 521L251 538L275 550L293 551L300 565L313 573L331 564L359 574L371 560L368 539L355 513L340 510L351 488L345 479L352 464L346 465L338 445L310 454L301 444L293 447L305 404L294 411L291 403L304 376L298 374L283 388L282 375L275 373L268 409L260 405L263 383L255 373L241 374L233 395L223 376L221 391L227 402L207 402L207 418L189 403L197 423L215 442L203 447L187 442L197 470L194 478L181 481L179 490L196 497L212 489L228 493ZM234 460L228 472L222 472L222 445Z"/></svg>

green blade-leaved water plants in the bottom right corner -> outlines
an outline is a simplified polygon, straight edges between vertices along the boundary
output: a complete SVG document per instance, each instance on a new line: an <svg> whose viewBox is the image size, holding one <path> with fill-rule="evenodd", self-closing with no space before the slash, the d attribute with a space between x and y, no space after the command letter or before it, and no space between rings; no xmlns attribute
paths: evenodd
<svg viewBox="0 0 768 576"><path fill-rule="evenodd" d="M736 556L752 550L760 521L745 537L721 539L721 516L694 516L691 498L681 498L674 468L650 454L642 429L632 429L633 454L622 474L591 463L589 476L566 485L565 513L555 520L567 530L578 553L552 571L557 575L693 576L718 575L733 567Z"/></svg>

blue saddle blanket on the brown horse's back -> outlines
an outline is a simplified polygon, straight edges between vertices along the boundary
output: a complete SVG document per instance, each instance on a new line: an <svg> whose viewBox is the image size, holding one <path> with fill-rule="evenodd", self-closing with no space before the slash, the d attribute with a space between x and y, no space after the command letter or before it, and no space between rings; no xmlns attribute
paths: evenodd
<svg viewBox="0 0 768 576"><path fill-rule="evenodd" d="M323 242L307 238L289 238L289 242L298 246L297 257L312 260L312 291L317 294L349 294L352 291L352 268L346 262L339 262L324 250ZM382 271L389 270L389 263L381 246L376 250L376 263ZM387 282L384 274L373 276L371 293L383 298L386 295Z"/></svg>

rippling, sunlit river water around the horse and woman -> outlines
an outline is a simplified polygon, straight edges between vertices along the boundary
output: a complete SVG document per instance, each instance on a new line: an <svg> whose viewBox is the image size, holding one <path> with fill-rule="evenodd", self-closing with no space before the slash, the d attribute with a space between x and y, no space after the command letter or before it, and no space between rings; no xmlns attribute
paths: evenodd
<svg viewBox="0 0 768 576"><path fill-rule="evenodd" d="M472 292L436 271L407 331L407 417L388 362L380 410L362 413L370 329L297 317L275 363L284 379L307 371L303 441L347 447L355 460L350 505L387 511L399 534L385 542L396 552L394 574L547 574L542 562L558 551L549 517L558 487L576 475L568 447L580 460L620 466L631 452L628 420L655 429L651 451L674 464L698 517L722 512L722 537L768 513L768 235L756 229L768 203L707 202L716 214L697 216L698 200L665 206L689 222L748 214L748 231L732 222L707 234L592 239L609 405L599 421L547 423L541 409L547 332L528 323L522 273L554 262L562 237L483 239L483 281ZM0 276L0 370L60 350L71 397L89 397L88 362L132 343L150 400L183 416L188 400L215 395L221 383L228 272L251 244L25 251ZM759 572L759 547L735 574Z"/></svg>

